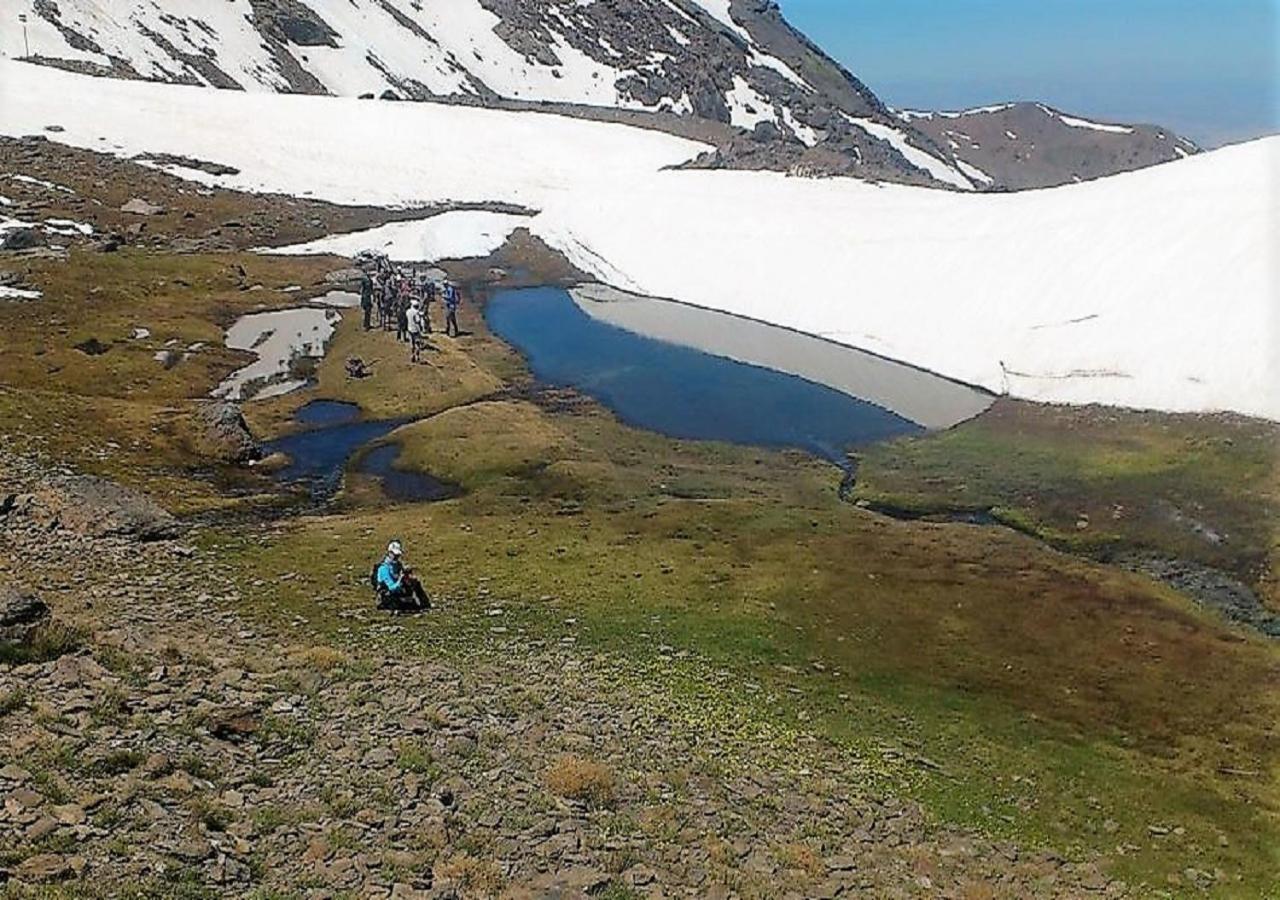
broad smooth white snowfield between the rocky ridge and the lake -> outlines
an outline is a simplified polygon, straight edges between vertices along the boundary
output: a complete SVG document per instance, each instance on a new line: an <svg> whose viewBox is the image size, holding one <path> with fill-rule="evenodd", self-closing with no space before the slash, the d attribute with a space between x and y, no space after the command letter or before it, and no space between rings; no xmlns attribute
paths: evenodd
<svg viewBox="0 0 1280 900"><path fill-rule="evenodd" d="M49 124L83 147L225 163L241 174L220 183L248 189L520 204L540 210L535 234L614 287L992 390L1280 420L1280 138L1052 191L959 195L671 170L704 147L538 113L0 63L0 133Z"/></svg>

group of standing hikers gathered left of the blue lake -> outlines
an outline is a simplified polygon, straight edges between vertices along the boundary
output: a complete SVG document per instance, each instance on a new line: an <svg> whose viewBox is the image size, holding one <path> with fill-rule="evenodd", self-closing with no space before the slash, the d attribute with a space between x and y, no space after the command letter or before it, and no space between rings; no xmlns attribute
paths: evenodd
<svg viewBox="0 0 1280 900"><path fill-rule="evenodd" d="M408 343L410 358L420 362L426 335L431 334L431 303L439 300L444 303L444 335L462 334L458 328L462 296L448 278L404 269L381 253L362 253L357 262L362 273L360 309L366 332L374 328L396 332L397 341Z"/></svg>

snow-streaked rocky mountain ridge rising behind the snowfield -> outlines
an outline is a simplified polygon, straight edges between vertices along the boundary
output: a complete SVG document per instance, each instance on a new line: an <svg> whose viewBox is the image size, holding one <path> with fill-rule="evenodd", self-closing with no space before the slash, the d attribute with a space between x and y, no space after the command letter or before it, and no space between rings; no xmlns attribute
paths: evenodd
<svg viewBox="0 0 1280 900"><path fill-rule="evenodd" d="M0 36L0 54L228 90L536 106L696 137L714 147L694 163L703 168L963 191L1050 187L1194 151L1171 134L1155 138L1158 129L1085 134L1061 124L1070 117L1052 133L1037 132L1034 157L1025 145L973 146L1000 114L966 117L978 132L969 141L948 133L950 114L895 114L772 0L123 6L122 14L120 4L101 0L0 0L6 20L27 18L23 35Z"/></svg>

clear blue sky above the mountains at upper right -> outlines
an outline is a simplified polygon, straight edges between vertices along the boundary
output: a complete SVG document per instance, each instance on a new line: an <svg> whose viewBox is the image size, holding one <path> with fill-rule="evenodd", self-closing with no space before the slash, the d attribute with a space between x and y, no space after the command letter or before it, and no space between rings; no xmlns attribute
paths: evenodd
<svg viewBox="0 0 1280 900"><path fill-rule="evenodd" d="M1043 100L1206 146L1280 131L1280 0L781 0L891 106Z"/></svg>

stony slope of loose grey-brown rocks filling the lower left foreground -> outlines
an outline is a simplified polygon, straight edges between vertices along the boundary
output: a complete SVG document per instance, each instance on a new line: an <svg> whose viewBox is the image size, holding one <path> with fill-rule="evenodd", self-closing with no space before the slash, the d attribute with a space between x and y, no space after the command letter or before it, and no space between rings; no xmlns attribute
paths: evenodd
<svg viewBox="0 0 1280 900"><path fill-rule="evenodd" d="M47 463L3 462L4 492L44 489ZM461 652L406 653L417 623L371 608L348 615L380 620L374 643L310 644L305 621L243 612L296 572L237 572L198 529L138 543L22 508L0 518L0 577L56 625L0 666L15 896L1125 892L1092 864L928 826L812 735L703 727L572 644L485 625ZM438 597L430 617L502 622L486 594ZM727 673L704 675L714 691Z"/></svg>

